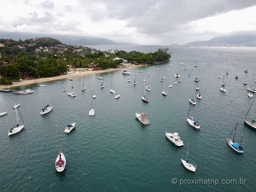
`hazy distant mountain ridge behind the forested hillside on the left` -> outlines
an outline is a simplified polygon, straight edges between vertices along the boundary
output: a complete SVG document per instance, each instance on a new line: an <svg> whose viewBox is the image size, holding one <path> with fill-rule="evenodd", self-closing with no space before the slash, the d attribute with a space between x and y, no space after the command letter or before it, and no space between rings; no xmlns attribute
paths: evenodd
<svg viewBox="0 0 256 192"><path fill-rule="evenodd" d="M71 45L118 45L124 43L116 43L109 39L91 37L91 36L71 36L71 35L56 35L56 34L44 34L44 33L20 33L20 32L1 32L0 38L13 39L13 40L25 40L36 37L52 37L58 39L65 44Z"/></svg>

